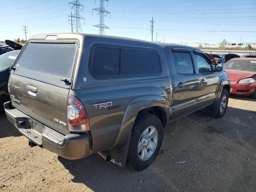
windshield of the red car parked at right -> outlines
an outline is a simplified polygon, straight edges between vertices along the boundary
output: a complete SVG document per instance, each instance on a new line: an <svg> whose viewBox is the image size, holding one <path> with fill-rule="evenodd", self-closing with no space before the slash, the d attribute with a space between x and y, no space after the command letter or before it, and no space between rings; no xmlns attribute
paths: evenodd
<svg viewBox="0 0 256 192"><path fill-rule="evenodd" d="M256 61L229 60L223 65L224 69L256 72Z"/></svg>

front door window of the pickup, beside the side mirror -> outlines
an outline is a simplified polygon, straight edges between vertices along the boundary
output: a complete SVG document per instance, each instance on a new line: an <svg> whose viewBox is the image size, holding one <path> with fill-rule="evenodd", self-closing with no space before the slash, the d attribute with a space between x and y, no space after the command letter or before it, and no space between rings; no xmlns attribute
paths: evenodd
<svg viewBox="0 0 256 192"><path fill-rule="evenodd" d="M201 53L194 54L199 73L212 73L211 61Z"/></svg>

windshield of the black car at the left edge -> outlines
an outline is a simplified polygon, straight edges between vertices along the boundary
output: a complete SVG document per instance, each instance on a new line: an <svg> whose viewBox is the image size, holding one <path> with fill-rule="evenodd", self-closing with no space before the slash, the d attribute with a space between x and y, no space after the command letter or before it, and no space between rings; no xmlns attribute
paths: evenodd
<svg viewBox="0 0 256 192"><path fill-rule="evenodd" d="M19 52L20 50L10 51L0 55L0 71L10 68L10 66L13 64L14 60L18 56Z"/></svg>

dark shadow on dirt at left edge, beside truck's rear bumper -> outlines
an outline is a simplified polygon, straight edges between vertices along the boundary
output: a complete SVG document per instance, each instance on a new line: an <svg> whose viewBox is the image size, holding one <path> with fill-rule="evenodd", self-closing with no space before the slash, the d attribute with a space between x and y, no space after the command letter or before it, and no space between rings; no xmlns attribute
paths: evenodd
<svg viewBox="0 0 256 192"><path fill-rule="evenodd" d="M7 119L6 114L0 111L0 138L4 137L18 137L21 136L19 131L12 125L12 123Z"/></svg>

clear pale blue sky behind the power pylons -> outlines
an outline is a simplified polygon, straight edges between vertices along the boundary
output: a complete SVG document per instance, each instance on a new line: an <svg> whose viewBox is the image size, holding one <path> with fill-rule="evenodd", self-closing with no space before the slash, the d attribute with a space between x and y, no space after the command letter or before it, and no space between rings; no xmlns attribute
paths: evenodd
<svg viewBox="0 0 256 192"><path fill-rule="evenodd" d="M68 33L73 0L0 0L0 41L35 34ZM3 3L4 2L4 3ZM82 32L98 34L100 0L80 0ZM4 5L3 5L4 4ZM168 43L256 42L256 0L109 0L105 34ZM74 10L73 10L74 12ZM242 37L242 40L241 40Z"/></svg>

